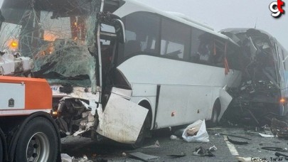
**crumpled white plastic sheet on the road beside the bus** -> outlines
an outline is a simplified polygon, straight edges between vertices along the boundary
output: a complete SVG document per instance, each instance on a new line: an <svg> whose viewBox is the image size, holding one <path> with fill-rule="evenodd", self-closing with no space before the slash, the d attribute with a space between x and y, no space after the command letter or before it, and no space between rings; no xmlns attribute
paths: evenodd
<svg viewBox="0 0 288 162"><path fill-rule="evenodd" d="M188 129L196 128L198 129L198 132L195 136L188 136L187 131ZM205 120L198 120L195 121L193 124L190 124L186 127L186 129L183 131L182 138L184 141L187 142L208 142L209 141L209 135L206 131L206 124Z"/></svg>

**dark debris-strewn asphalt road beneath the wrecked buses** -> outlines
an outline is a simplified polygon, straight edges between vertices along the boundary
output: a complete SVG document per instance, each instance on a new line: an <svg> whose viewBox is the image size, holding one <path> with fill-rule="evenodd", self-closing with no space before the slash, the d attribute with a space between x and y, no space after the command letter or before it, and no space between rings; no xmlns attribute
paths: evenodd
<svg viewBox="0 0 288 162"><path fill-rule="evenodd" d="M261 131L255 131L255 128L247 130L245 127L220 127L212 130L207 129L207 131L210 140L207 143L188 143L182 139L171 140L171 131L167 129L156 131L151 139L146 140L144 147L135 150L109 142L99 144L87 138L66 137L62 139L62 153L68 153L69 156L78 158L78 161L80 161L83 155L86 155L91 161L139 161L129 156L129 153L135 152L158 156L158 158L150 161L238 161L237 157L239 156L247 158L247 161L262 161L262 159L265 158L267 161L286 161L284 158L275 156L274 153L276 151L262 149L262 147L267 146L283 149L288 148L288 141L285 139L262 137L257 134L257 132ZM230 142L225 141L225 136L218 135L218 133L245 136L251 140L230 136L230 139L247 141L248 143L245 145L230 144ZM159 147L149 147L154 146L156 141L159 141ZM146 148L146 146L148 146L148 148ZM207 149L215 146L217 150L212 152L215 156L193 155L193 151L199 146ZM181 158L171 158L169 156L183 153L185 153L186 156ZM288 155L288 152L282 153Z"/></svg>

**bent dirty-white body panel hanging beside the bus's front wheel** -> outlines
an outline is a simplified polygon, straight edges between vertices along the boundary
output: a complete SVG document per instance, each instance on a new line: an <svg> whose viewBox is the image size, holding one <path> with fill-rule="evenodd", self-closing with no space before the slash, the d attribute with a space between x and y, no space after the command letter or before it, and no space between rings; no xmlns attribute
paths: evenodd
<svg viewBox="0 0 288 162"><path fill-rule="evenodd" d="M102 112L102 107L99 107L97 113L99 116L97 133L124 144L134 144L148 109L119 95L111 94L105 111Z"/></svg>

